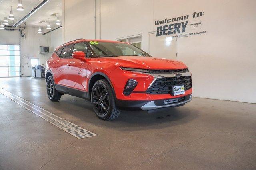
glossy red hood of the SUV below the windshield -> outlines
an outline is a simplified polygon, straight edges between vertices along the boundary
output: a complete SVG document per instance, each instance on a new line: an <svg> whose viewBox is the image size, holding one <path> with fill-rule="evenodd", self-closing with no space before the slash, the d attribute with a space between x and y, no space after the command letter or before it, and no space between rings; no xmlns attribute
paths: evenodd
<svg viewBox="0 0 256 170"><path fill-rule="evenodd" d="M118 57L102 57L98 58L101 62L118 64L127 68L142 68L142 69L182 69L187 66L181 61L142 57L142 56L118 56Z"/></svg>

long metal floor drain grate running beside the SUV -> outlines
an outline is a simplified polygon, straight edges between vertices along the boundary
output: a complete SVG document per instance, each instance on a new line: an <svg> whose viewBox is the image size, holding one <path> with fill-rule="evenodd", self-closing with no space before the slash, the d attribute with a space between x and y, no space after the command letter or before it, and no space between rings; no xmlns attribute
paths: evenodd
<svg viewBox="0 0 256 170"><path fill-rule="evenodd" d="M2 93L4 96L10 98L14 102L18 103L20 106L25 107L32 113L42 117L44 120L48 121L49 123L55 125L56 127L66 131L67 133L73 135L74 137L78 139L86 138L86 137L93 137L97 136L95 133L92 133L86 129L83 129L82 127L79 127L78 125L75 125L74 123L71 123L65 119L62 119L61 117L58 117L49 111L46 111L42 109L41 107L38 107L25 99L16 96L10 92L7 92L6 90L3 90L0 88L0 93Z"/></svg>

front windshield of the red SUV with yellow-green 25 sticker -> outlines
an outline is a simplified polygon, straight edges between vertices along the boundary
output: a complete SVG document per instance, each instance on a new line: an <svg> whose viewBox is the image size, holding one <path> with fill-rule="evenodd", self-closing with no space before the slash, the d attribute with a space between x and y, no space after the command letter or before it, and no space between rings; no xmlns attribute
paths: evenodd
<svg viewBox="0 0 256 170"><path fill-rule="evenodd" d="M148 56L147 53L134 45L127 43L112 43L112 42L89 42L92 50L98 57L117 57L117 56Z"/></svg>

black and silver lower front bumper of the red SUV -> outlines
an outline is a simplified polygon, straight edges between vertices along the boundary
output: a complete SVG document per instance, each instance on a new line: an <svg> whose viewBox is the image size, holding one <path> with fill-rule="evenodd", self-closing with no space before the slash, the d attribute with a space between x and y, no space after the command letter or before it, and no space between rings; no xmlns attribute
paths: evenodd
<svg viewBox="0 0 256 170"><path fill-rule="evenodd" d="M116 100L116 106L119 109L125 110L154 110L165 107L182 106L192 100L192 94L182 96L179 98L168 98L161 100Z"/></svg>

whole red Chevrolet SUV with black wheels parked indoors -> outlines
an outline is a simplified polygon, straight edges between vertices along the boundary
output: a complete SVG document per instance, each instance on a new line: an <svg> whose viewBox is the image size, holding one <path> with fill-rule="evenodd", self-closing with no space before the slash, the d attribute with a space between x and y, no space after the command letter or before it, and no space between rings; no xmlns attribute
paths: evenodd
<svg viewBox="0 0 256 170"><path fill-rule="evenodd" d="M192 99L191 73L184 63L154 58L118 41L65 43L47 61L45 77L50 100L64 93L90 100L103 120L115 119L120 109L148 111Z"/></svg>

